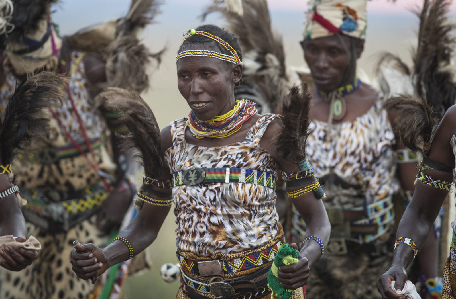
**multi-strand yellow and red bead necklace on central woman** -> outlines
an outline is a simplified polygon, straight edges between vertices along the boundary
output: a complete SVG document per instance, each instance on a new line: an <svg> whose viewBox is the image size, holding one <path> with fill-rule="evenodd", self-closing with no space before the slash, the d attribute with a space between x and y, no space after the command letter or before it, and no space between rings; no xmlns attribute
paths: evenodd
<svg viewBox="0 0 456 299"><path fill-rule="evenodd" d="M236 100L236 105L231 111L207 121L197 119L192 111L189 114L187 126L192 135L198 139L228 137L238 132L242 125L257 113L255 105L249 100Z"/></svg>

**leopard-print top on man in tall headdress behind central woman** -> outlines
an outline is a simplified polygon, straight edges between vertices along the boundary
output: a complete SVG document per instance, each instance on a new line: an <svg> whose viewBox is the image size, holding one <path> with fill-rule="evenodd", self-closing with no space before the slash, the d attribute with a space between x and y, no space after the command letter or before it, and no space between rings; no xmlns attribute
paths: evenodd
<svg viewBox="0 0 456 299"><path fill-rule="evenodd" d="M341 196L344 202L325 201L325 204L357 207L397 192L394 142L388 113L380 100L353 121L329 126L312 120L306 151L315 175L321 178L332 175L364 194Z"/></svg>

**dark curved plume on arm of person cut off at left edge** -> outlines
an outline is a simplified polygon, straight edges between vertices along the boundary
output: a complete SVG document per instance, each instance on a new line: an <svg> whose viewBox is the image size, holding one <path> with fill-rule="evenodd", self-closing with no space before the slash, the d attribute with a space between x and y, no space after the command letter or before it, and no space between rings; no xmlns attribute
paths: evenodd
<svg viewBox="0 0 456 299"><path fill-rule="evenodd" d="M10 163L15 154L28 148L32 139L46 134L49 120L40 111L53 101L62 104L62 86L66 83L61 75L41 72L19 84L6 106L0 131L3 163Z"/></svg>

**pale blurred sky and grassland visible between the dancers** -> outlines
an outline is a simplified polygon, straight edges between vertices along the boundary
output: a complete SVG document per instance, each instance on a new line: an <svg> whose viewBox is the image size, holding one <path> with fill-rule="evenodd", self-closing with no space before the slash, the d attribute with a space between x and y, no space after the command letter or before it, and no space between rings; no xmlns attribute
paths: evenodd
<svg viewBox="0 0 456 299"><path fill-rule="evenodd" d="M161 65L150 69L151 88L142 96L155 113L161 128L172 120L186 116L190 109L176 86L177 48L183 32L202 24L200 15L211 0L164 0L161 14L155 24L146 28L142 38L153 51L166 47ZM272 25L283 36L286 63L305 67L299 41L302 40L306 0L269 0ZM61 35L72 34L83 27L117 18L127 13L129 0L62 0L54 7L53 21ZM373 75L378 53L392 52L410 63L410 50L416 44L418 18L410 12L422 5L421 0L370 0L368 1L368 31L360 67ZM456 5L452 5L452 14ZM224 25L218 14L209 15L205 23ZM137 182L138 184L140 181ZM178 282L166 284L160 277L163 263L177 263L175 230L172 210L156 241L148 248L153 268L140 276L129 277L122 294L123 299L175 298ZM83 240L81 240L83 241Z"/></svg>

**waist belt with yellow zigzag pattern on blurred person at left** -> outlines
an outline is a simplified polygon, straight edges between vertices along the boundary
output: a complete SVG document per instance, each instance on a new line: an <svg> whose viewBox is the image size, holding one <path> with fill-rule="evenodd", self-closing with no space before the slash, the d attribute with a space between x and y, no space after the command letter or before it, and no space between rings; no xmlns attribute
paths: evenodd
<svg viewBox="0 0 456 299"><path fill-rule="evenodd" d="M75 192L21 189L21 196L27 200L22 210L27 221L48 231L65 232L96 213L108 191L101 185Z"/></svg>

